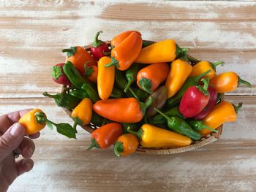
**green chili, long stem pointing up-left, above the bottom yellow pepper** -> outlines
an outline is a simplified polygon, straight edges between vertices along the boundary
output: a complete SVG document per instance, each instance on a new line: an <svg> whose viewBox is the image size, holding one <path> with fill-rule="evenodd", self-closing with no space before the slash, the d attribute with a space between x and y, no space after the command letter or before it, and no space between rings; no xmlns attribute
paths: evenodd
<svg viewBox="0 0 256 192"><path fill-rule="evenodd" d="M184 119L178 116L169 117L165 115L165 113L157 110L157 108L155 108L155 110L167 119L167 126L171 130L176 131L178 134L183 134L187 137L190 137L194 140L199 140L202 137L202 135L195 131L191 126L189 126L189 124Z"/></svg>

